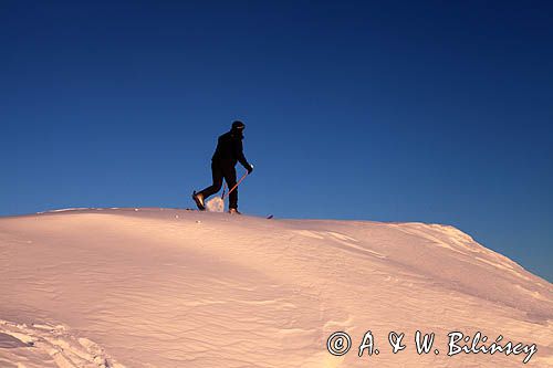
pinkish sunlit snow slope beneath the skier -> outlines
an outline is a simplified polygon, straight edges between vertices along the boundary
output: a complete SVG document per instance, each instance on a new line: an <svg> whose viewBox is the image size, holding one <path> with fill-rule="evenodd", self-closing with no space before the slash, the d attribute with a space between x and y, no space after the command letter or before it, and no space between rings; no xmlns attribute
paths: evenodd
<svg viewBox="0 0 553 368"><path fill-rule="evenodd" d="M551 283L447 225L168 209L0 218L0 367L523 366L525 354L447 356L448 333L481 332L535 344L526 366L541 368L552 326ZM367 330L379 354L359 358ZM432 353L417 354L416 330L436 334ZM351 336L344 356L326 350L334 332ZM405 350L392 353L390 332Z"/></svg>

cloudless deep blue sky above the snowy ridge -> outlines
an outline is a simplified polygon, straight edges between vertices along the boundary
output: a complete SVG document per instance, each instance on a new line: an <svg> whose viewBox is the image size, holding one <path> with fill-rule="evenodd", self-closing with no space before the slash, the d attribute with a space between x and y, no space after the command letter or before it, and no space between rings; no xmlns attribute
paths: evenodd
<svg viewBox="0 0 553 368"><path fill-rule="evenodd" d="M243 212L453 224L553 280L552 14L2 1L0 214L192 207L240 118Z"/></svg>

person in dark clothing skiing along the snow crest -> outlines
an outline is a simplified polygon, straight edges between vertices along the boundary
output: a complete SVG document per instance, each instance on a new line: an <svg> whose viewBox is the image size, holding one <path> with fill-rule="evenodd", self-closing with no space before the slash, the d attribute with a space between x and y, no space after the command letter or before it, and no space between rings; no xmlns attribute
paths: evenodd
<svg viewBox="0 0 553 368"><path fill-rule="evenodd" d="M227 181L229 190L234 187L237 183L237 170L234 169L237 162L240 162L248 170L248 174L251 174L253 170L253 166L248 162L243 155L242 139L244 128L246 125L242 122L236 120L232 123L230 132L219 137L217 148L211 158L213 183L200 192L194 191L192 193L192 199L199 210L204 211L206 209L205 200L221 189L223 178ZM229 194L229 212L240 213L238 212L238 188Z"/></svg>

